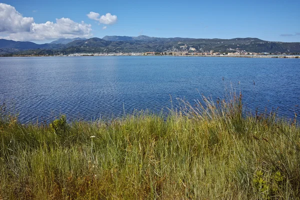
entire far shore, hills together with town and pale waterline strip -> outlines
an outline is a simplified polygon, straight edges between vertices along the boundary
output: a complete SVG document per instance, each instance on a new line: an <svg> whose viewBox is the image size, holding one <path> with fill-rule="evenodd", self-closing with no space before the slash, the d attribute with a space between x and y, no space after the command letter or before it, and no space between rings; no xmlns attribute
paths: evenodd
<svg viewBox="0 0 300 200"><path fill-rule="evenodd" d="M0 39L0 56L234 56L298 58L300 42L258 38L195 39L146 35L60 38L51 43Z"/></svg>

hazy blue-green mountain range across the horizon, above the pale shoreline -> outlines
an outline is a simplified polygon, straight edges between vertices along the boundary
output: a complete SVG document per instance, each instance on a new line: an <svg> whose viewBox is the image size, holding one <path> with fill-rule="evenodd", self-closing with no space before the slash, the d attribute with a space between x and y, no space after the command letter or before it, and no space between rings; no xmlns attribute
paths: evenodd
<svg viewBox="0 0 300 200"><path fill-rule="evenodd" d="M201 39L182 37L104 36L103 38L59 38L51 43L36 44L29 41L0 39L0 54L46 55L74 52L146 52L193 51L300 53L300 42L265 41L258 38Z"/></svg>

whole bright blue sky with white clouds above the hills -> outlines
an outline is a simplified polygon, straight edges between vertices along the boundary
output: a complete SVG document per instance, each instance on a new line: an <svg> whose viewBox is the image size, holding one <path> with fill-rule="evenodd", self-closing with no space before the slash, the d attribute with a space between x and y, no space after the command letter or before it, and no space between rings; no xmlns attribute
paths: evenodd
<svg viewBox="0 0 300 200"><path fill-rule="evenodd" d="M21 17L32 17L21 19L16 13L11 20L24 22L1 27L7 17L1 15L0 8L0 36L14 40L42 43L56 37L144 34L300 42L299 0L2 0L1 3L14 7ZM12 12L11 7L4 7L9 9L6 14ZM88 17L90 12L94 14ZM111 15L108 17L106 13ZM110 16L114 16L112 21ZM50 34L51 30L55 34Z"/></svg>

